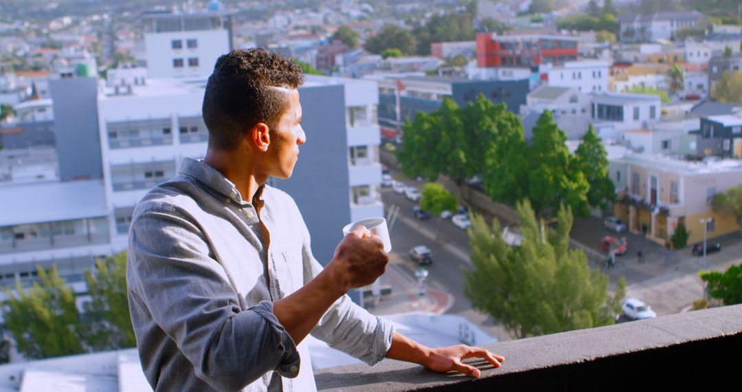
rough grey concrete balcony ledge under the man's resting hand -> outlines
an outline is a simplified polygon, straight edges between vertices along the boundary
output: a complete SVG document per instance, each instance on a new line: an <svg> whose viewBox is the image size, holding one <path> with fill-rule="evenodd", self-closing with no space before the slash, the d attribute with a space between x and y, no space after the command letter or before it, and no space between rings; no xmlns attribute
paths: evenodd
<svg viewBox="0 0 742 392"><path fill-rule="evenodd" d="M482 364L480 379L390 359L317 370L315 379L320 390L364 392L727 388L740 363L742 304L485 347L506 361L493 368L467 360Z"/></svg>

